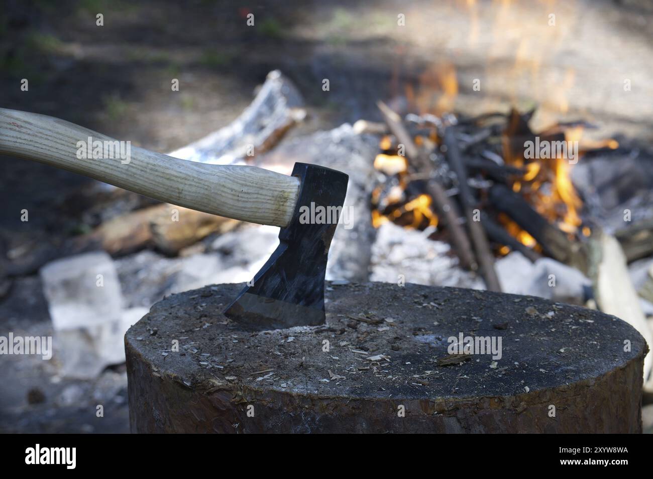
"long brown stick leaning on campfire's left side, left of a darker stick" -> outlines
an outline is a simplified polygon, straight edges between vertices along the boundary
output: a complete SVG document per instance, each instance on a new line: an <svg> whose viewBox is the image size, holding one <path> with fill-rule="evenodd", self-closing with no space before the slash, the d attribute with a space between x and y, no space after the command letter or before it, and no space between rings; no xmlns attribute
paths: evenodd
<svg viewBox="0 0 653 479"><path fill-rule="evenodd" d="M439 216L443 218L447 224L447 229L451 237L451 244L458 255L458 259L460 259L460 265L464 268L475 269L476 261L471 250L470 240L458 220L458 218L460 218L458 208L456 208L453 201L449 199L443 186L433 177L434 167L431 161L424 157L424 155L419 151L417 145L415 145L415 142L413 142L413 139L404 127L399 115L392 111L392 109L383 102L378 102L377 105L379 106L383 119L385 119L392 134L394 134L397 141L402 143L406 148L406 156L411 162L411 167L420 173L423 173L428 179L426 182L426 193L432 197Z"/></svg>

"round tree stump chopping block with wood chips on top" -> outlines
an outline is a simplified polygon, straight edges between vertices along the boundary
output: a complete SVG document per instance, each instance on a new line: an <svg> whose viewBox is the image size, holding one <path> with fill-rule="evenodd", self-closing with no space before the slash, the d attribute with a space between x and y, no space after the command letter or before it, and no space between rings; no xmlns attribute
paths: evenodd
<svg viewBox="0 0 653 479"><path fill-rule="evenodd" d="M127 332L132 432L641 432L646 343L616 317L489 291L327 283L326 325L253 332L222 315L241 288L172 295ZM449 354L460 335L501 338L501 357Z"/></svg>

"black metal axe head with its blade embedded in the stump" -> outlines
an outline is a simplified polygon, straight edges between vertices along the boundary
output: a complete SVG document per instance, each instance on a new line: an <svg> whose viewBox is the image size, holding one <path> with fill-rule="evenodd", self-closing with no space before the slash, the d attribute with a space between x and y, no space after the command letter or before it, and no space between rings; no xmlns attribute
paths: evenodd
<svg viewBox="0 0 653 479"><path fill-rule="evenodd" d="M342 213L348 175L296 163L300 180L295 213L279 231L279 246L225 315L257 329L314 326L325 322L328 249ZM251 283L251 282L250 282Z"/></svg>

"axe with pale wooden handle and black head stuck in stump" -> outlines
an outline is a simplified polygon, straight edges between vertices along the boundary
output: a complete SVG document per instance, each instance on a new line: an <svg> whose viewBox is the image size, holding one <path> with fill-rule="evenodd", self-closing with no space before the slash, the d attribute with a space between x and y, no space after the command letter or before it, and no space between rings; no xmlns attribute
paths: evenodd
<svg viewBox="0 0 653 479"><path fill-rule="evenodd" d="M325 322L327 256L347 192L345 173L296 163L287 176L123 145L67 121L0 108L0 154L67 169L173 205L279 226L278 248L225 315L258 329ZM330 214L307 214L315 211Z"/></svg>

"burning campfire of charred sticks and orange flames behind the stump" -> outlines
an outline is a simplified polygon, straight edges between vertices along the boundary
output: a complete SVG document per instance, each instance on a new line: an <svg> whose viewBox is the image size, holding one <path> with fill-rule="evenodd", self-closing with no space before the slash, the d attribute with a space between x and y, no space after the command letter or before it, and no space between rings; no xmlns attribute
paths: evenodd
<svg viewBox="0 0 653 479"><path fill-rule="evenodd" d="M421 81L422 93L407 89L419 113L402 119L379 103L387 129L374 161L382 178L372 194L374 226L393 222L446 240L462 267L481 265L490 289L498 289L494 257L511 251L586 270L582 245L593 225L583 219L571 168L587 152L618 142L582 141L591 127L582 121L534 132L535 109L454 115L447 112L458 91L453 68L428 70Z"/></svg>

